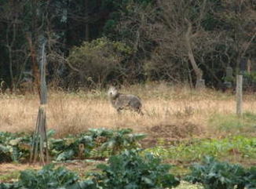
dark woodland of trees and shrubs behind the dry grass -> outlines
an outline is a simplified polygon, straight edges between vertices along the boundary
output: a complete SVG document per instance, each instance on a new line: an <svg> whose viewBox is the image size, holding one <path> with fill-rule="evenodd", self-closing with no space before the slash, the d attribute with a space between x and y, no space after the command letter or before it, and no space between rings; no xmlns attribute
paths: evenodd
<svg viewBox="0 0 256 189"><path fill-rule="evenodd" d="M0 0L0 78L12 90L166 81L233 82L240 62L256 81L254 0Z"/></svg>

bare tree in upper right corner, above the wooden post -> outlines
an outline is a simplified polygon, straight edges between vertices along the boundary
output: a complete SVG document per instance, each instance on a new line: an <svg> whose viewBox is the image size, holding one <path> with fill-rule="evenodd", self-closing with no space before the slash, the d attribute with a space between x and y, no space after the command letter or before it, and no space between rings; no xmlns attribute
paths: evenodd
<svg viewBox="0 0 256 189"><path fill-rule="evenodd" d="M251 0L229 0L223 2L223 6L225 11L218 13L218 16L229 25L230 29L225 35L230 41L230 48L236 52L233 59L238 71L243 56L256 58L256 46L253 45L256 36L256 4Z"/></svg>

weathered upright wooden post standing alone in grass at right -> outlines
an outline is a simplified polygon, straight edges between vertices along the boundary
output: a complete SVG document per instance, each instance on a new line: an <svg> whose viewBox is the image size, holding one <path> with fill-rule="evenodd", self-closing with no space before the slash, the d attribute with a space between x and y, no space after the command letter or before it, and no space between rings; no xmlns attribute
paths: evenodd
<svg viewBox="0 0 256 189"><path fill-rule="evenodd" d="M236 75L236 114L243 114L243 75Z"/></svg>

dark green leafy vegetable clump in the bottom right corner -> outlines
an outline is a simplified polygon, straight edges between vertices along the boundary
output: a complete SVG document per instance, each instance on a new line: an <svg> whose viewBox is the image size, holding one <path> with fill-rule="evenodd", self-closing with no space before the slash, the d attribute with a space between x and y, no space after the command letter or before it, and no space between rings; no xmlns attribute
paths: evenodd
<svg viewBox="0 0 256 189"><path fill-rule="evenodd" d="M256 167L250 170L240 165L228 162L218 162L212 157L206 157L203 164L192 165L192 173L186 180L192 183L201 183L206 189L237 189L256 187Z"/></svg>

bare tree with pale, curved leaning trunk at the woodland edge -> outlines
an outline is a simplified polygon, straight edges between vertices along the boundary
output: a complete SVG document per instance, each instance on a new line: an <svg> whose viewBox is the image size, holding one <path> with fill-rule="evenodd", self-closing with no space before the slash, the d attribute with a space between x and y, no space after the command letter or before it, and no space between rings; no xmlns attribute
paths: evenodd
<svg viewBox="0 0 256 189"><path fill-rule="evenodd" d="M200 25L205 13L207 13L209 3L207 0L193 2L163 0L158 1L158 5L163 11L162 15L159 16L161 22L158 28L158 31L162 34L152 35L152 38L158 38L159 45L163 46L160 52L168 49L169 56L177 57L181 63L187 65L190 63L196 75L196 89L203 88L203 71L199 67L203 62L197 62L203 60L203 53L199 53L199 51L202 49L204 49L204 52L213 51L212 44L218 40L218 38L212 40L213 34L204 31ZM198 7L197 13L191 11L191 6ZM190 73L188 67L188 75ZM192 77L190 76L190 78Z"/></svg>

